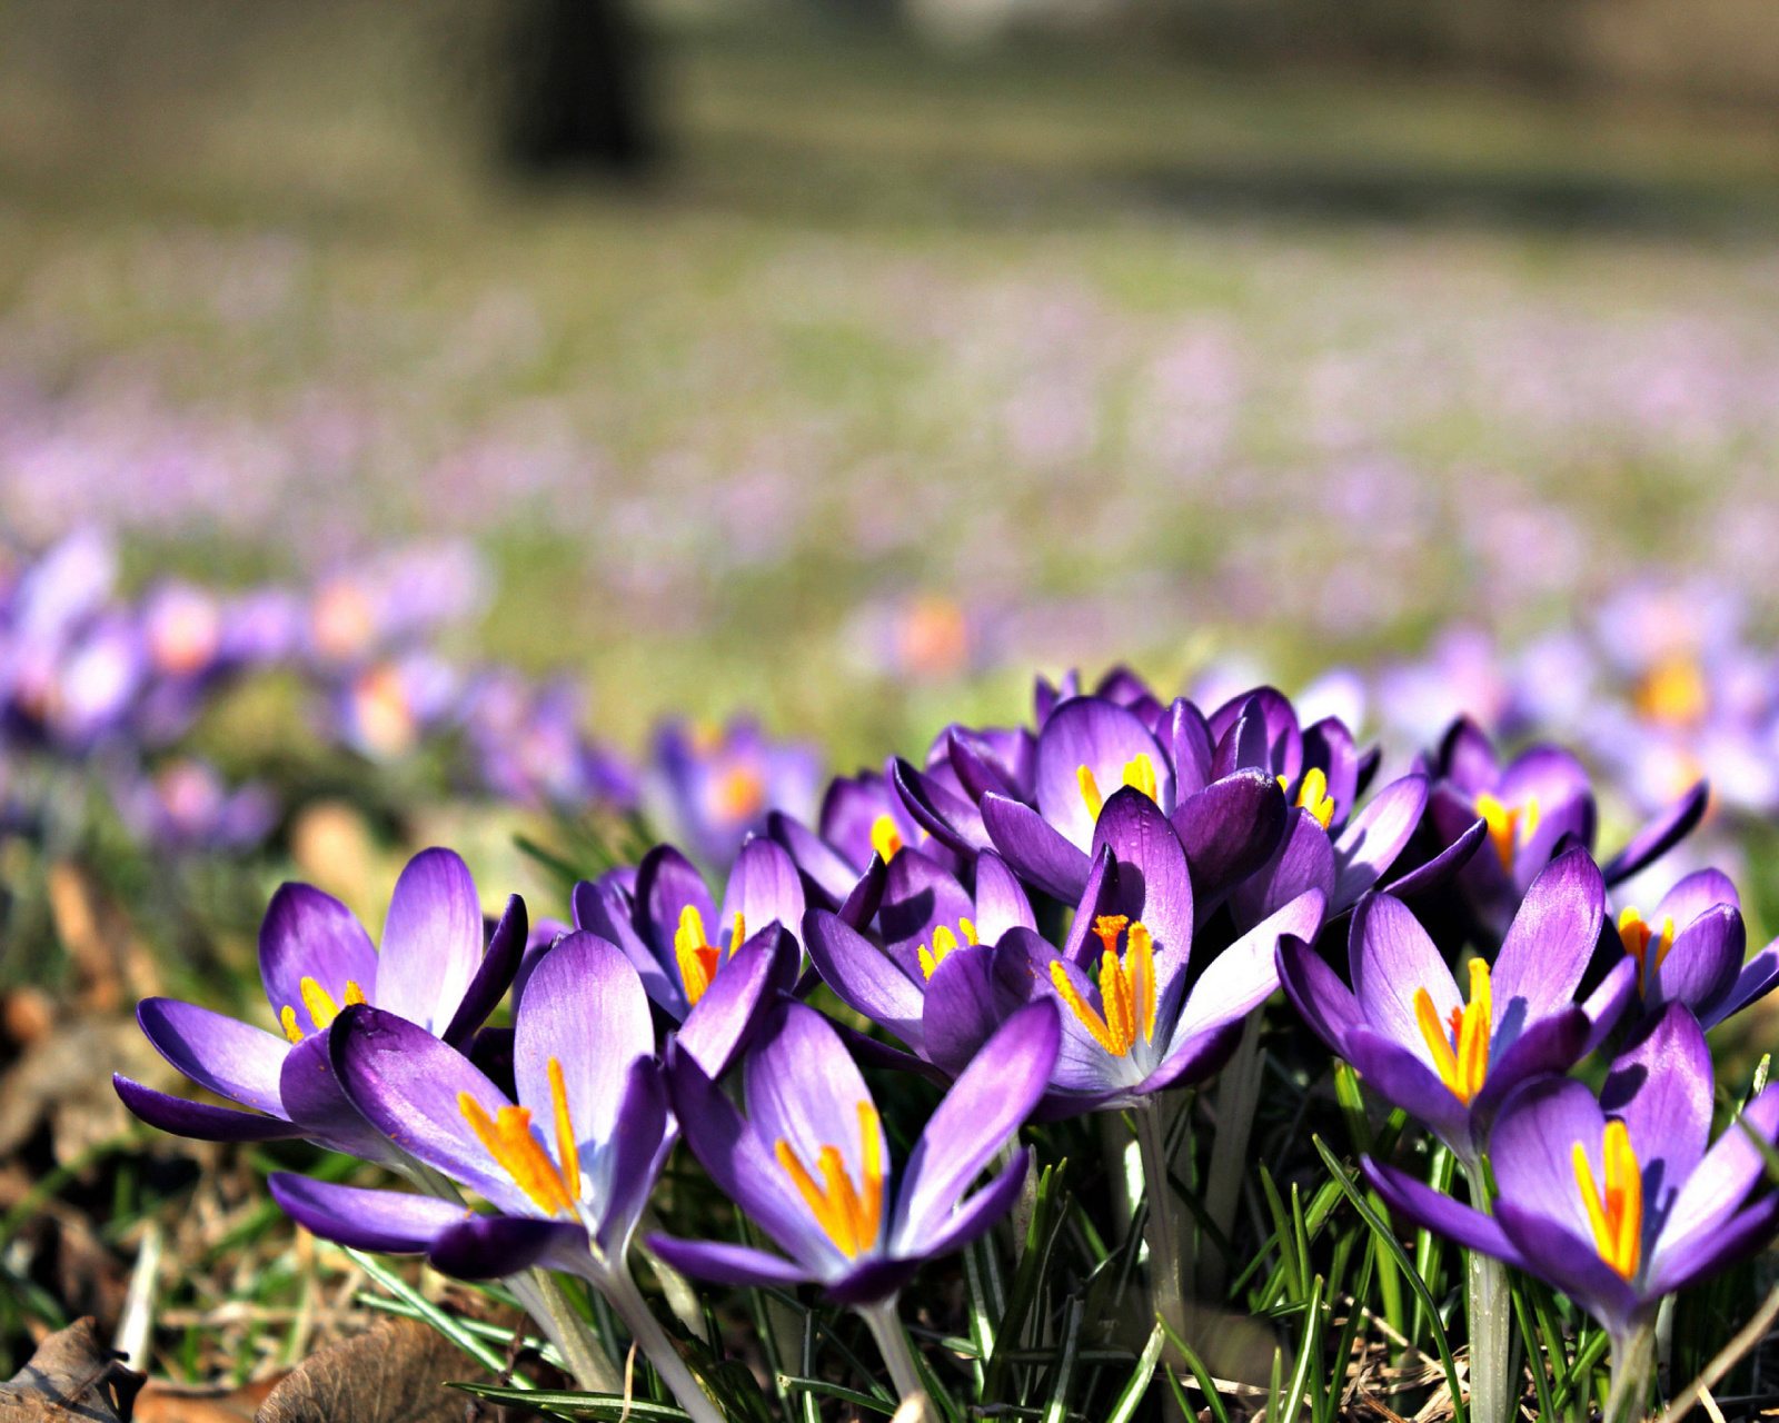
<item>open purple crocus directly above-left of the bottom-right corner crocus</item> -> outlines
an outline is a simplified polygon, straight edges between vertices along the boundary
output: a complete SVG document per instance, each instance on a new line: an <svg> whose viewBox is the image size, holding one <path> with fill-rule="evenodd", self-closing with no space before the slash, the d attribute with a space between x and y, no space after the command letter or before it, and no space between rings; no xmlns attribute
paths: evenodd
<svg viewBox="0 0 1779 1423"><path fill-rule="evenodd" d="M1279 943L1279 980L1304 1021L1372 1089L1475 1167L1489 1121L1532 1076L1564 1073L1612 1030L1635 991L1622 959L1574 1001L1599 941L1605 884L1587 850L1539 873L1491 966L1469 961L1469 1000L1402 900L1368 895L1348 930L1352 989L1300 939Z"/></svg>

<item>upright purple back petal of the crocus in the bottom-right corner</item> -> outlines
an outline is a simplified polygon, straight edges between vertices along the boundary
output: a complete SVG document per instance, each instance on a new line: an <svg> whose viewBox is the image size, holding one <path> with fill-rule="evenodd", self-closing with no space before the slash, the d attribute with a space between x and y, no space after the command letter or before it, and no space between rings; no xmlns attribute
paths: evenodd
<svg viewBox="0 0 1779 1423"><path fill-rule="evenodd" d="M1638 1162L1663 1162L1667 1192L1692 1176L1711 1137L1711 1049L1685 1005L1670 1003L1654 1026L1614 1060L1599 1106L1624 1121ZM1646 1213L1660 1206L1646 1190Z"/></svg>

